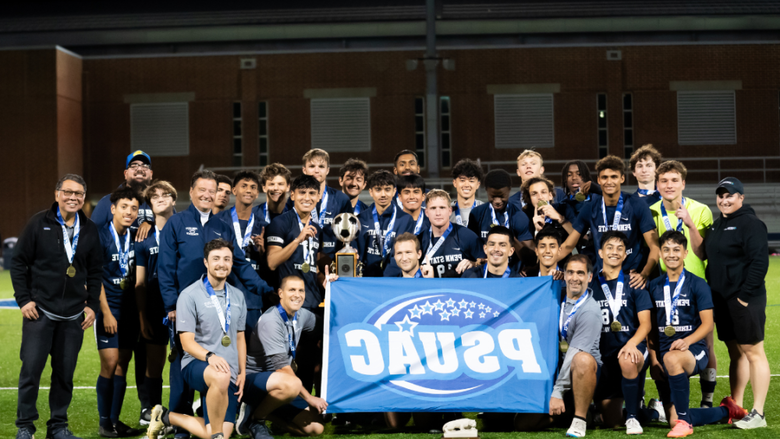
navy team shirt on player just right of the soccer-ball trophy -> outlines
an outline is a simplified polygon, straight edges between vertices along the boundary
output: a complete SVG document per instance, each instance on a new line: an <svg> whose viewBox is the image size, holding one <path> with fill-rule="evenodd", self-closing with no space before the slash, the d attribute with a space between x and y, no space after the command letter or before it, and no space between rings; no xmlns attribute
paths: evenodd
<svg viewBox="0 0 780 439"><path fill-rule="evenodd" d="M390 225L390 220L393 218L393 211L396 212L395 225L393 230L390 231L390 242L388 243L388 252L385 255L384 270L381 268L382 262L382 246L379 245L379 239L374 231L374 207L376 204L371 204L368 209L360 212L358 220L360 221L360 233L355 241L357 244L357 251L360 258L360 262L363 266L363 277L395 277L401 272L398 265L395 263L395 237L402 233L412 233L414 231L414 220L412 216L404 212L403 208L398 207L397 204L391 203L384 212L379 216L379 228L382 233L387 232L387 228Z"/></svg>

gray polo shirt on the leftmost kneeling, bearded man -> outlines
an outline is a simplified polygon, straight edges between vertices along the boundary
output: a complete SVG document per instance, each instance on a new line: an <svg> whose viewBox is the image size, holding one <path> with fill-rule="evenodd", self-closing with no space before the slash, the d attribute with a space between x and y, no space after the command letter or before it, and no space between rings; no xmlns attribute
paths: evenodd
<svg viewBox="0 0 780 439"><path fill-rule="evenodd" d="M205 275L203 275L205 276ZM226 290L214 291L219 299L222 310L225 310L225 291L230 295L230 346L222 346L224 331L219 322L219 315L206 287L203 286L203 277L188 286L179 295L176 301L176 331L192 332L195 334L195 342L203 349L214 352L225 359L230 365L230 379L236 380L238 376L238 347L236 336L238 328L246 326L246 303L244 294L237 288L225 284ZM182 370L195 359L185 352L181 360Z"/></svg>

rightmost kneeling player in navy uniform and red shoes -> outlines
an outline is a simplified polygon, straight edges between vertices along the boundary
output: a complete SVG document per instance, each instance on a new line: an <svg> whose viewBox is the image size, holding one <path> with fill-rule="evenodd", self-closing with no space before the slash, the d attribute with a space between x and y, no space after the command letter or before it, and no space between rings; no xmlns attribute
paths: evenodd
<svg viewBox="0 0 780 439"><path fill-rule="evenodd" d="M693 434L693 427L712 424L722 419L742 419L747 410L731 397L720 407L691 409L688 407L690 384L688 377L707 366L707 344L704 337L712 331L712 292L704 279L685 269L688 239L681 232L669 230L661 235L661 258L666 275L653 279L648 291L655 303L650 332L651 367L663 372L656 381L658 394L664 403L672 431L667 437Z"/></svg>

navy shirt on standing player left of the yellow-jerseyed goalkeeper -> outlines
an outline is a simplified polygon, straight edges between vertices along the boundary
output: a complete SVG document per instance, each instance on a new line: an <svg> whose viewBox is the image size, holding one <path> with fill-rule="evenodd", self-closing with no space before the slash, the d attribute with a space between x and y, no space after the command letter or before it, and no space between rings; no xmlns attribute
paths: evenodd
<svg viewBox="0 0 780 439"><path fill-rule="evenodd" d="M628 256L623 261L623 272L628 273L630 270L641 271L642 268L642 242L644 241L644 233L647 233L655 229L655 222L653 216L650 213L650 208L647 207L644 200L638 197L633 197L625 192L623 194L623 212L620 217L620 224L617 226L617 230L623 232L628 237L628 245L626 246L626 253ZM602 198L600 195L591 195L591 201L582 203L582 210L577 216L577 220L574 222L574 230L585 235L590 230L593 237L593 245L595 248L601 248L601 236L606 233L608 227L612 227L612 220L615 218L616 206L607 206L607 222L609 226L604 224L604 216L601 211ZM594 272L601 270L601 257L596 254L596 267Z"/></svg>

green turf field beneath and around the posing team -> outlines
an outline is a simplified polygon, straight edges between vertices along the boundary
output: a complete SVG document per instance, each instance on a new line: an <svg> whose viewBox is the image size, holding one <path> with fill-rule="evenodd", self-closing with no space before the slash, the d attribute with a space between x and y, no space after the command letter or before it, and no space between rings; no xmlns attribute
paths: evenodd
<svg viewBox="0 0 780 439"><path fill-rule="evenodd" d="M780 374L780 347L777 345L777 338L780 336L780 257L770 258L769 275L767 276L768 290L768 308L766 325L766 346L769 364L773 374ZM8 272L0 272L0 299L13 297L11 291ZM0 355L0 438L13 438L16 435L14 421L16 419L16 387L19 379L19 346L21 344L22 316L19 310L0 310L0 346L2 346L2 355ZM717 343L717 355L720 359L718 364L718 376L728 374L728 355L726 347L722 343ZM73 391L73 402L70 406L69 418L71 430L74 434L83 438L98 438L98 414L95 395L95 381L97 380L99 369L98 354L95 348L95 339L90 329L84 334L84 345L81 349L78 367ZM133 367L130 367L128 376L128 385L134 385ZM41 380L41 391L38 397L38 409L41 419L36 423L38 428L37 437L43 438L46 434L46 420L48 419L48 390L50 369L46 368ZM167 368L165 374L167 376ZM167 385L167 379L166 379ZM647 398L656 396L655 386L648 382L646 386ZM715 398L720 401L729 392L728 379L718 378L718 387L715 391ZM766 404L767 421L769 427L753 431L738 431L727 425L714 425L705 427L696 427L696 436L708 438L742 438L742 437L780 437L780 377L773 377L769 389L769 397ZM691 404L700 400L698 379L691 380ZM163 401L168 400L168 391L163 393ZM752 405L752 394L748 387L748 393L745 399L745 406L750 409ZM125 404L122 413L122 421L128 425L135 425L138 421L139 403L134 389L128 389L125 397ZM474 414L469 414L473 416ZM479 427L479 425L478 425ZM332 427L328 427L332 432ZM645 427L644 437L665 437L669 428L665 425L655 424ZM379 434L379 433L377 433ZM552 438L564 437L565 430L550 430L541 433L481 433L484 439L509 439L517 437L534 438ZM625 431L613 430L589 430L589 438L616 438L625 437ZM364 431L357 431L355 434L348 435L330 435L331 437L359 439L367 436ZM384 439L432 439L434 435L413 434L413 433L394 433L381 434ZM438 436L436 436L438 439Z"/></svg>

